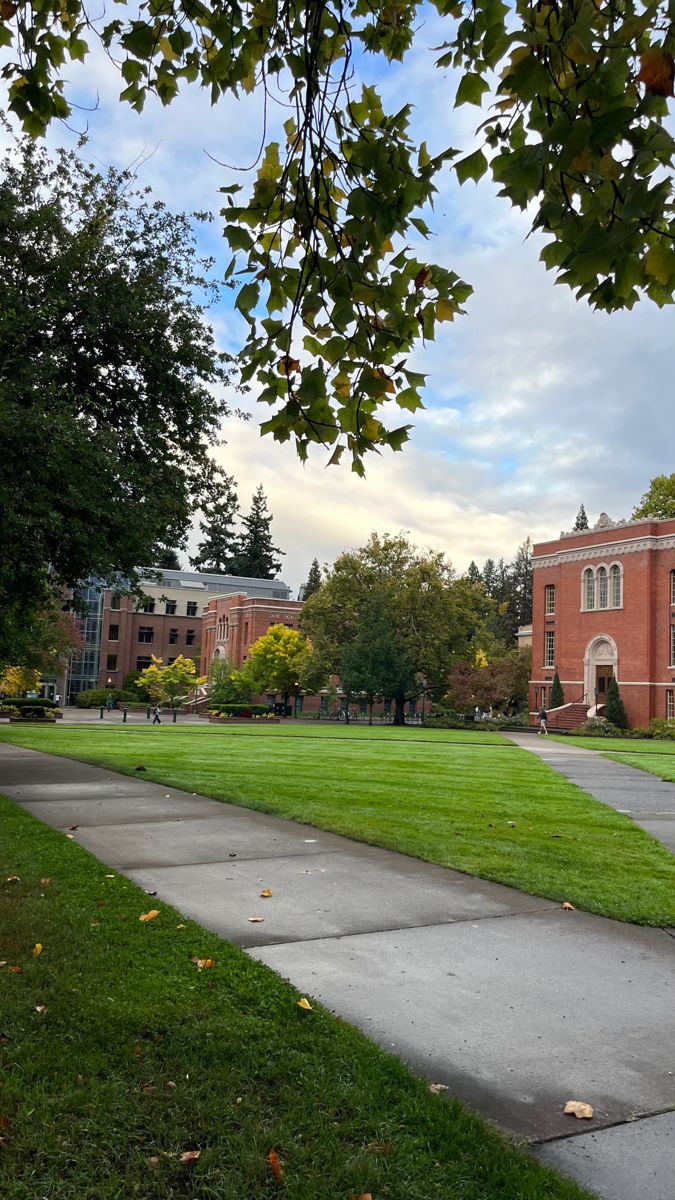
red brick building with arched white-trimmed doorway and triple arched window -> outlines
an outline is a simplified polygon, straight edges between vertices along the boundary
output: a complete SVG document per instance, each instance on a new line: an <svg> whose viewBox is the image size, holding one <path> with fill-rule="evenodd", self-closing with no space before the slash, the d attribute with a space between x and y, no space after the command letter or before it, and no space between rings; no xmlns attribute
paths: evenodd
<svg viewBox="0 0 675 1200"><path fill-rule="evenodd" d="M613 522L533 547L530 708L557 670L573 724L616 677L631 725L675 715L675 520ZM561 724L562 714L561 714Z"/></svg>

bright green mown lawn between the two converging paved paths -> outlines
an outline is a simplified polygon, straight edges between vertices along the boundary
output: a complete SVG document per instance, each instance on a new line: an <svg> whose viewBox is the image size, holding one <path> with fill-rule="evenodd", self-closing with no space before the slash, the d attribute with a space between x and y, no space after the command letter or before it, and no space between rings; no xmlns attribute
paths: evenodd
<svg viewBox="0 0 675 1200"><path fill-rule="evenodd" d="M144 766L144 779L620 920L675 924L675 857L495 734L61 725L6 727L0 739L127 774Z"/></svg>

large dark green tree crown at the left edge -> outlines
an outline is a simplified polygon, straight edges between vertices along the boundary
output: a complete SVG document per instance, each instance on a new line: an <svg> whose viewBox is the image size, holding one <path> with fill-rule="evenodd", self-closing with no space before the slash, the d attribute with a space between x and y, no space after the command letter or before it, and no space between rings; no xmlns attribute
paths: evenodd
<svg viewBox="0 0 675 1200"><path fill-rule="evenodd" d="M6 28L6 26L5 26ZM30 139L0 173L0 661L31 613L136 580L208 494L228 378L210 264L127 173ZM23 659L20 659L23 661Z"/></svg>

